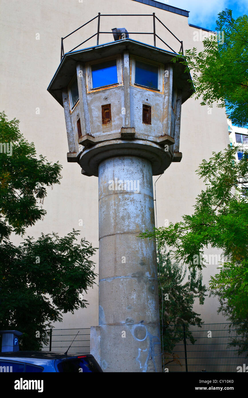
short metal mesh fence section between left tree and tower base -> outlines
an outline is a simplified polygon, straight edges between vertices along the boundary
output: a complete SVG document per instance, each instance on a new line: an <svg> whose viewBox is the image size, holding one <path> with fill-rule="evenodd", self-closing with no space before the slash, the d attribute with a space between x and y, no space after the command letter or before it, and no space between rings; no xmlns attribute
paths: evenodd
<svg viewBox="0 0 248 398"><path fill-rule="evenodd" d="M68 353L90 354L90 328L48 329L46 333L49 343L42 351L65 352L72 344Z"/></svg>

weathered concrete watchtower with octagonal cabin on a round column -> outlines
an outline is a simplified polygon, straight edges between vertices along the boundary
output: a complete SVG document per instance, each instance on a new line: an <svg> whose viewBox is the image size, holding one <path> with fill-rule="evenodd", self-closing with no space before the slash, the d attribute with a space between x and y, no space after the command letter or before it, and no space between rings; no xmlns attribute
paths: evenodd
<svg viewBox="0 0 248 398"><path fill-rule="evenodd" d="M125 36L126 37L126 36ZM160 372L152 176L180 162L189 74L175 53L129 38L66 53L48 91L64 107L68 162L99 180L99 326L106 372ZM93 352L94 351L94 352Z"/></svg>

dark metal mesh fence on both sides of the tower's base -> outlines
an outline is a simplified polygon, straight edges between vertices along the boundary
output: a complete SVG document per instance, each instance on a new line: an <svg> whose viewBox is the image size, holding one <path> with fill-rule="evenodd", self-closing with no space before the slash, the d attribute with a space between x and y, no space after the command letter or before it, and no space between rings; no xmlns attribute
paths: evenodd
<svg viewBox="0 0 248 398"><path fill-rule="evenodd" d="M247 327L248 322L164 326L161 338L165 371L237 372L238 366L248 369ZM49 329L47 338L43 351L65 352L72 343L68 353L90 353L90 328ZM246 345L247 351L238 355L238 345L231 345L234 340Z"/></svg>

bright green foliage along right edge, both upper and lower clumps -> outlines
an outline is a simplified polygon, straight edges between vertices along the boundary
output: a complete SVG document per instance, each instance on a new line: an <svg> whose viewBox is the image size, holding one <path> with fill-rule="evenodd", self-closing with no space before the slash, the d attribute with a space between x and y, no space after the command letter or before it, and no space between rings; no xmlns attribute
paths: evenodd
<svg viewBox="0 0 248 398"><path fill-rule="evenodd" d="M248 124L248 17L235 20L226 9L216 24L217 34L203 41L203 51L186 50L173 62L181 62L185 72L191 73L189 83L201 105L227 107L232 123L243 126ZM182 261L193 273L207 265L204 248L223 250L226 261L219 274L211 277L210 289L219 298L219 312L232 323L240 322L236 330L243 337L231 344L241 353L248 347L248 162L247 154L236 162L237 150L242 148L229 146L213 153L209 162L203 160L197 173L207 187L197 197L193 215L141 236L156 236L158 245L172 248L174 261Z"/></svg>

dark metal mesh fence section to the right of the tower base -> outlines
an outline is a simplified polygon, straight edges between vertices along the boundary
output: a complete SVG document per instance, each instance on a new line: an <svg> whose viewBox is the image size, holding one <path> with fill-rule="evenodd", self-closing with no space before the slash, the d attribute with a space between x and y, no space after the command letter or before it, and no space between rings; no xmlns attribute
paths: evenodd
<svg viewBox="0 0 248 398"><path fill-rule="evenodd" d="M247 324L167 326L163 333L164 371L237 372L238 366L244 369L243 364L248 366L248 351L238 355L238 343L248 347ZM230 345L234 340L237 345Z"/></svg>

